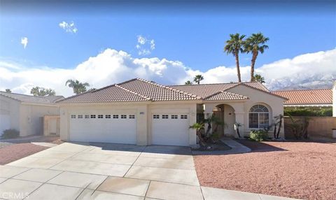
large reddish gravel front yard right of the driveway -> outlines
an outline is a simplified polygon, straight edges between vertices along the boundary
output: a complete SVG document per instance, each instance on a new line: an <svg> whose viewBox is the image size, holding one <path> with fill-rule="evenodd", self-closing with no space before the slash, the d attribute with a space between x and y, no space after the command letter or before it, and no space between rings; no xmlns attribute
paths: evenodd
<svg viewBox="0 0 336 200"><path fill-rule="evenodd" d="M336 199L336 145L239 141L252 152L195 156L202 186L297 199Z"/></svg>

